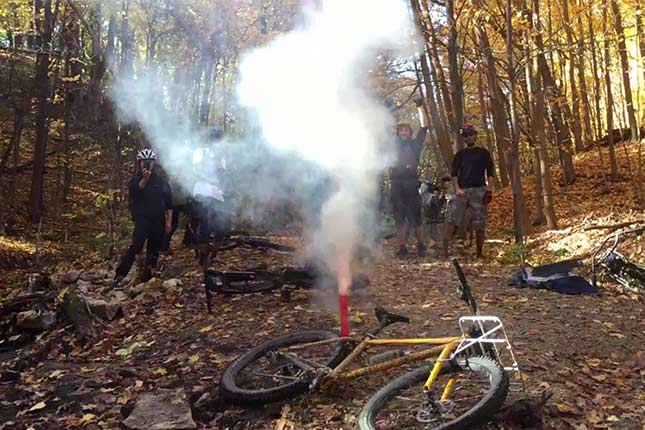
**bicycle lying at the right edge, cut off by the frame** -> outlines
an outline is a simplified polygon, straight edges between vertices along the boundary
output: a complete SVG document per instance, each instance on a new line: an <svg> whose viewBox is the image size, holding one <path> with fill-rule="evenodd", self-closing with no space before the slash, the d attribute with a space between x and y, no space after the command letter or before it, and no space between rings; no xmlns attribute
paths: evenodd
<svg viewBox="0 0 645 430"><path fill-rule="evenodd" d="M645 292L645 268L627 260L624 255L616 251L621 236L627 234L638 235L643 232L645 232L645 226L622 232L617 231L603 240L591 259L592 284L594 287L596 286L597 272L600 267L601 276L606 275L609 279L631 291ZM607 245L609 246L607 247Z"/></svg>

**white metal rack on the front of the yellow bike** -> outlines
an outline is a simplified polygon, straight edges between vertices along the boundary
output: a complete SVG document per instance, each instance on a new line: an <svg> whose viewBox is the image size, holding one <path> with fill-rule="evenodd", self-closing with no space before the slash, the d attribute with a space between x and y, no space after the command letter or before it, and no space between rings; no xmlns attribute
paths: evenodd
<svg viewBox="0 0 645 430"><path fill-rule="evenodd" d="M472 327L477 327L482 333L476 338L468 337ZM464 339L459 343L457 349L452 353L451 359L464 351L474 348L479 349L478 353L486 355L485 344L492 346L495 359L502 365L504 370L511 376L511 391L524 391L524 380L520 367L513 354L511 342L508 340L502 320L494 316L466 316L459 318L459 329Z"/></svg>

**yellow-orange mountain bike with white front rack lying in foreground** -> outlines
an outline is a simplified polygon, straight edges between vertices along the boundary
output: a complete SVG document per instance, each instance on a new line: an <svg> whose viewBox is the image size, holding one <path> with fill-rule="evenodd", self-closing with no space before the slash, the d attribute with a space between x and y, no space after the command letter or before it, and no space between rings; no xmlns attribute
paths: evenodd
<svg viewBox="0 0 645 430"><path fill-rule="evenodd" d="M372 396L358 417L359 428L470 429L485 423L500 409L511 387L522 388L522 379L501 320L479 314L461 267L457 260L453 264L460 280L460 298L473 313L459 319L461 335L379 337L387 326L410 321L379 307L379 326L365 337L340 338L331 331L307 330L247 351L222 374L223 397L238 404L285 400L436 357L433 364L392 380ZM369 348L402 345L436 346L416 352L387 351L369 357L367 365L349 368Z"/></svg>

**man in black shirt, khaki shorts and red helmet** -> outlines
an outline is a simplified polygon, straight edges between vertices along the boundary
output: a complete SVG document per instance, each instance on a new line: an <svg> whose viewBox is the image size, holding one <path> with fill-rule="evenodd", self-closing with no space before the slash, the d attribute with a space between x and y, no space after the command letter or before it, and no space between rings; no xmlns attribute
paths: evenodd
<svg viewBox="0 0 645 430"><path fill-rule="evenodd" d="M466 209L473 212L473 229L477 257L483 256L486 230L487 205L493 196L495 168L488 150L476 146L477 130L470 124L460 129L466 148L459 150L452 160L452 184L456 198L450 201L446 220L443 248L448 256L448 245L455 233L455 227L462 224Z"/></svg>

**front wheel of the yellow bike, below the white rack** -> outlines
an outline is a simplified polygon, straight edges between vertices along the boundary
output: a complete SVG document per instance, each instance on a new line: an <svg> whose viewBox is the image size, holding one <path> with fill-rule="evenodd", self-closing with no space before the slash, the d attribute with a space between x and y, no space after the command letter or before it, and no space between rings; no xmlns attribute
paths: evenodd
<svg viewBox="0 0 645 430"><path fill-rule="evenodd" d="M446 364L433 392L423 385L432 371L425 366L400 376L379 390L358 417L360 430L470 429L484 424L504 403L508 375L488 357ZM449 400L440 400L448 379L456 378Z"/></svg>

